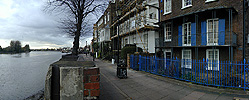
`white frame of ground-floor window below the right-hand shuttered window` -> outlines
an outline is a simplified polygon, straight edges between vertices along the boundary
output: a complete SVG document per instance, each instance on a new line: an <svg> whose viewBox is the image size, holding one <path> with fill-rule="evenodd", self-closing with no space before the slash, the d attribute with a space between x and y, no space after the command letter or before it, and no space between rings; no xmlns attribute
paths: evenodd
<svg viewBox="0 0 249 100"><path fill-rule="evenodd" d="M213 69L213 64L212 64L213 58L212 59L208 58L210 51L212 51L213 53L217 52L217 58L215 58L215 60L217 59L217 63L215 63L215 64L217 64L217 68L214 68L214 69ZM206 50L206 59L208 59L208 67L207 67L206 70L216 70L216 71L219 71L219 59L220 59L220 57L219 57L219 49L207 49Z"/></svg>

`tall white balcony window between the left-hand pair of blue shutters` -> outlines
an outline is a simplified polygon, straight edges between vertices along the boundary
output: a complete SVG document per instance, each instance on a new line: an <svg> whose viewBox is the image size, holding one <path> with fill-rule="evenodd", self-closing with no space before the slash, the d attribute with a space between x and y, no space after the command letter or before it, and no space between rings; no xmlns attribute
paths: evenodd
<svg viewBox="0 0 249 100"><path fill-rule="evenodd" d="M182 45L191 46L191 22L182 24Z"/></svg>

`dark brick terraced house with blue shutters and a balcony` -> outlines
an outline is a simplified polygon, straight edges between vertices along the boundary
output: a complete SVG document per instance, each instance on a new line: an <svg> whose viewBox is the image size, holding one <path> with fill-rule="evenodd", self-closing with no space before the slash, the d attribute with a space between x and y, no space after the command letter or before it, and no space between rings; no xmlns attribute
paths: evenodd
<svg viewBox="0 0 249 100"><path fill-rule="evenodd" d="M249 59L248 11L243 9L243 0L159 0L159 7L162 31L156 48L165 58L213 62ZM191 63L184 66L191 68ZM215 70L219 65L208 67Z"/></svg>

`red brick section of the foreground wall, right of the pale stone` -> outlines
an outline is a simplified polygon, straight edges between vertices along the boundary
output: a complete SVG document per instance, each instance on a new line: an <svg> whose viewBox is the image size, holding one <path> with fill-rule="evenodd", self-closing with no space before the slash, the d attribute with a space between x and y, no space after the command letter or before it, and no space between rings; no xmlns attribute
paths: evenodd
<svg viewBox="0 0 249 100"><path fill-rule="evenodd" d="M84 99L97 99L100 95L100 74L98 67L84 69Z"/></svg>

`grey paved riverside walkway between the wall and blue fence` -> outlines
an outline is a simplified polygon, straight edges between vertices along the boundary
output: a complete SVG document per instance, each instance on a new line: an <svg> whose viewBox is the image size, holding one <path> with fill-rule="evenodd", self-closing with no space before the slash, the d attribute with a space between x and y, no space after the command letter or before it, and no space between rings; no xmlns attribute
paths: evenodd
<svg viewBox="0 0 249 100"><path fill-rule="evenodd" d="M90 55L80 56L92 61ZM249 100L248 91L202 86L132 69L127 79L119 79L115 64L94 62L100 68L100 100Z"/></svg>

